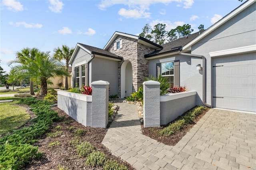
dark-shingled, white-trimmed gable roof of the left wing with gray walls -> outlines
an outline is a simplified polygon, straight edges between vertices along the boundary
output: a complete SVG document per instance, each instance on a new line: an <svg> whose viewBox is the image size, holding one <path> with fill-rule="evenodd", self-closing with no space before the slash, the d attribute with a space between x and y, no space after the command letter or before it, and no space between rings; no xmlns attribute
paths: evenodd
<svg viewBox="0 0 256 170"><path fill-rule="evenodd" d="M77 53L79 48L82 48L84 51L86 51L90 54L96 54L96 55L101 55L101 56L104 56L104 57L110 57L110 58L117 59L117 60L120 60L120 61L123 59L123 57L120 57L118 55L110 53L107 50L97 48L97 47L93 47L93 46L90 46L90 45L85 45L85 44L82 44L82 43L77 43L76 47L75 47L75 50L74 50L74 52L73 52L73 54L70 58L69 64L71 64L72 61L74 60L74 57L76 56L76 53Z"/></svg>

